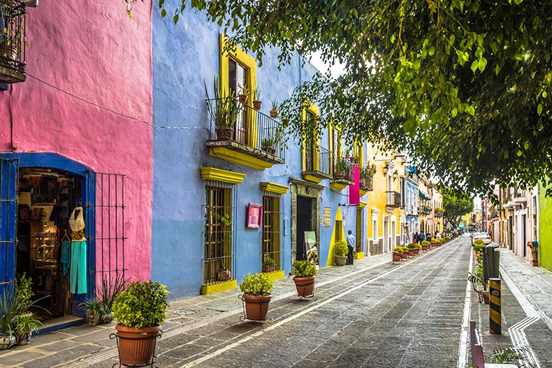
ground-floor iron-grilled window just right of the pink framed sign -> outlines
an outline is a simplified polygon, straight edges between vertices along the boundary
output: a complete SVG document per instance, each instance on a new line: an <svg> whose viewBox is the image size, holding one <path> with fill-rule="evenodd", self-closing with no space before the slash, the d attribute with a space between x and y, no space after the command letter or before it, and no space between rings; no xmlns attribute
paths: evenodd
<svg viewBox="0 0 552 368"><path fill-rule="evenodd" d="M280 200L281 196L266 192L263 195L263 265L271 258L275 261L274 270L280 270ZM263 267L264 269L265 267ZM270 270L270 268L266 268Z"/></svg>

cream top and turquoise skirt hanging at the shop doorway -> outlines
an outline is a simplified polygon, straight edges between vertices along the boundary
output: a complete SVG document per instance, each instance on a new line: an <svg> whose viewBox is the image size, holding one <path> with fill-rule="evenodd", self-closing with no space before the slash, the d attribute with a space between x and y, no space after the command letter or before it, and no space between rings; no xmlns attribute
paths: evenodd
<svg viewBox="0 0 552 368"><path fill-rule="evenodd" d="M73 294L87 293L85 217L82 207L75 207L69 217L71 227L71 260L69 291Z"/></svg>

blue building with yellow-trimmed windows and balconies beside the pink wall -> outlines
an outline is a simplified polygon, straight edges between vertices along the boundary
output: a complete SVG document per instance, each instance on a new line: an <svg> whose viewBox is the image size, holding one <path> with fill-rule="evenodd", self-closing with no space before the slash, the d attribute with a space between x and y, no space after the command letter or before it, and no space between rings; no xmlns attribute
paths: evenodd
<svg viewBox="0 0 552 368"><path fill-rule="evenodd" d="M258 66L240 47L224 52L221 29L201 13L180 19L175 26L153 12L152 279L178 298L234 288L249 272L281 278L314 247L320 267L333 264L333 243L347 230L364 254L368 189L349 206L353 178L334 179L340 133L284 144L289 127L270 117L271 102L289 98L316 69L298 54L279 69L277 50ZM231 94L240 98L232 131L210 115ZM303 119L320 113L311 105ZM354 152L363 167L363 145Z"/></svg>

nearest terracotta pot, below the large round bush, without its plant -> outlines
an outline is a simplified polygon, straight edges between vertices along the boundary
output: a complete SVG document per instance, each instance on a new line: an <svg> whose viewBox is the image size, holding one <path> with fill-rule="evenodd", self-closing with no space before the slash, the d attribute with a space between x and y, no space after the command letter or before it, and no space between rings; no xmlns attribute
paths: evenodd
<svg viewBox="0 0 552 368"><path fill-rule="evenodd" d="M115 325L122 365L151 365L155 353L155 341L161 325L134 328Z"/></svg>

